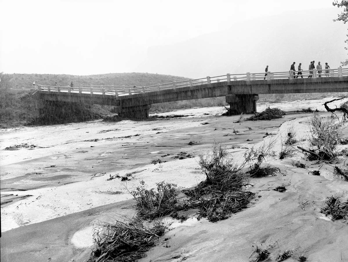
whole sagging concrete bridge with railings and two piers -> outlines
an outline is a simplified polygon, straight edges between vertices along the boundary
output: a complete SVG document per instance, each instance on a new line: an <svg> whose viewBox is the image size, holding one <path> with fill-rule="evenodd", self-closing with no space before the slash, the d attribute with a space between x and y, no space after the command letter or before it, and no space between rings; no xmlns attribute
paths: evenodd
<svg viewBox="0 0 348 262"><path fill-rule="evenodd" d="M39 86L38 100L116 106L120 117L147 118L151 104L226 96L236 113L256 112L259 94L348 92L348 68L226 74L153 86ZM301 78L301 76L303 78ZM298 77L298 78L296 78Z"/></svg>

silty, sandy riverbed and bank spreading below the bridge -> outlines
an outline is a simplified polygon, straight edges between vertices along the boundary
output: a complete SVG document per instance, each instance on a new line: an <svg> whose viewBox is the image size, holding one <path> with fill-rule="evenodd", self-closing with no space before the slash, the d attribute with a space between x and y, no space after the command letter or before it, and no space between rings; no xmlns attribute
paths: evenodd
<svg viewBox="0 0 348 262"><path fill-rule="evenodd" d="M323 101L271 107L324 110ZM258 105L258 111L266 106ZM302 140L296 145L308 148L311 114L234 123L239 116L215 116L222 112L191 109L175 112L187 115L184 118L1 130L1 260L85 261L93 247L93 225L136 213L128 191L141 180L148 188L160 181L189 188L204 180L198 155L210 150L213 141L226 145L236 162L247 148L270 141L275 141L278 156L289 128ZM345 126L342 132L348 136ZM3 150L22 143L37 147ZM329 165L320 169L321 176L309 175L322 164L306 161L299 151L283 160L277 156L267 162L282 173L251 180L248 190L258 197L249 208L216 223L194 218L175 222L165 235L170 238L167 247L153 248L141 261L250 261L255 245L261 244L274 245L270 261L286 249L293 250L287 261L297 261L299 255L307 261L348 261L347 222L330 221L319 212L327 196L339 193L347 199L348 182L334 177ZM161 163L151 164L158 159ZM307 168L294 167L296 161ZM129 180L107 180L117 174L129 174ZM272 190L282 184L286 192Z"/></svg>

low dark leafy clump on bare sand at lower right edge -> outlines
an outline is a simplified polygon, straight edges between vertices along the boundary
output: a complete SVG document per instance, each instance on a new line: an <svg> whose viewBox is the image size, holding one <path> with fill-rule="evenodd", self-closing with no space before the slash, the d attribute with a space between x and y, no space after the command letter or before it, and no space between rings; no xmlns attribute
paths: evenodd
<svg viewBox="0 0 348 262"><path fill-rule="evenodd" d="M341 202L339 196L326 197L326 207L321 209L321 213L331 215L332 220L348 219L348 201Z"/></svg>

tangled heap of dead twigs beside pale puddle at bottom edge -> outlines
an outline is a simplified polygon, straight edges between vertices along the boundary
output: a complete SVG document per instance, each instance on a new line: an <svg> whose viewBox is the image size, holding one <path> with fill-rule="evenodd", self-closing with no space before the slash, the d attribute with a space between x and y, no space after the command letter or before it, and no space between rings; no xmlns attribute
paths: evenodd
<svg viewBox="0 0 348 262"><path fill-rule="evenodd" d="M89 262L133 262L140 259L151 247L164 243L161 239L168 229L161 222L152 227L142 219L134 218L114 223L102 223L94 228L95 249Z"/></svg>

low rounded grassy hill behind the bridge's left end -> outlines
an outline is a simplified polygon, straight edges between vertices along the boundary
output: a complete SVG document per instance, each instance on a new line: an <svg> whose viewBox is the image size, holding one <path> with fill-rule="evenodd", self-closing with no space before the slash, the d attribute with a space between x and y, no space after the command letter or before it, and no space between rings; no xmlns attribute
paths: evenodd
<svg viewBox="0 0 348 262"><path fill-rule="evenodd" d="M184 77L149 73L108 73L90 76L74 76L68 74L3 74L0 84L8 88L29 88L32 86L33 81L35 81L36 85L42 86L53 86L55 82L60 86L68 86L72 81L74 85L150 86L187 79ZM6 80L6 84L3 80Z"/></svg>

